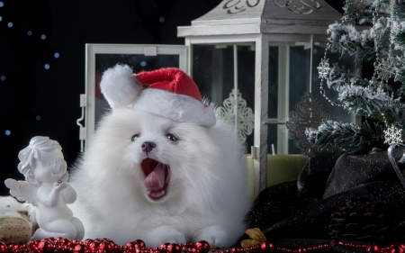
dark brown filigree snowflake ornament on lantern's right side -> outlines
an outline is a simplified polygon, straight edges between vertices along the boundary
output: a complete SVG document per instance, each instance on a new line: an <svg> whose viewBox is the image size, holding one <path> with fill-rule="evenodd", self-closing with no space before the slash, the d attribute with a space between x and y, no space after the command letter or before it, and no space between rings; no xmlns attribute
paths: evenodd
<svg viewBox="0 0 405 253"><path fill-rule="evenodd" d="M298 110L292 113L290 121L286 122L287 128L294 133L295 139L299 140L300 146L309 157L315 154L315 149L305 136L305 129L318 128L322 120L330 120L330 113L323 109L315 94L310 93L305 96L305 102L299 104Z"/></svg>

